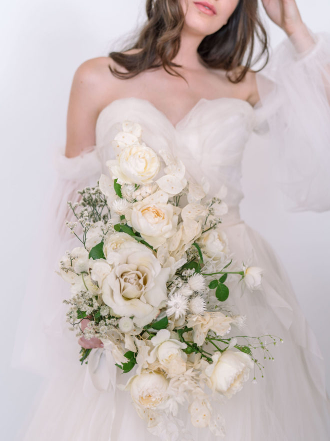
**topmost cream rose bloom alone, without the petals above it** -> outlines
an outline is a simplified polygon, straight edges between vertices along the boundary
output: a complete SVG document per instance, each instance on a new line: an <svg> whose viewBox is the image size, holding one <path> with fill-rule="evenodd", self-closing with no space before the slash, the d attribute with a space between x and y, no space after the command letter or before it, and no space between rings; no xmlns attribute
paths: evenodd
<svg viewBox="0 0 330 441"><path fill-rule="evenodd" d="M118 158L106 161L112 179L120 184L149 184L158 173L160 161L155 152L144 143L124 147Z"/></svg>

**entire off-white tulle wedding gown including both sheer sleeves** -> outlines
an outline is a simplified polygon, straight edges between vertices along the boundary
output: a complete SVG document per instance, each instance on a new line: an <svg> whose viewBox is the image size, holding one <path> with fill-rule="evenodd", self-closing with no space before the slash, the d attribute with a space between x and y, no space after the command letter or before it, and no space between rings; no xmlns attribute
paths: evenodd
<svg viewBox="0 0 330 441"><path fill-rule="evenodd" d="M96 143L79 156L66 158L63 148L54 154L58 172L43 215L42 245L34 259L38 273L27 283L21 326L17 330L12 364L44 377L42 393L31 418L19 435L24 441L151 441L129 392L115 387L125 383L134 369L122 374L112 367L110 376L80 365L75 333L65 321L66 283L55 274L57 261L78 246L64 220L67 200L75 201L76 189L94 185L104 162L113 157L110 141L124 120L138 122L142 140L156 151L169 149L183 160L188 176L206 176L211 191L224 183L229 206L222 227L236 263L250 258L264 269L261 288L241 296L234 283L225 305L247 315L245 335L273 334L283 344L270 348L274 361L260 360L264 378L256 371L243 389L221 409L227 441L326 441L330 439L330 405L325 390L324 362L281 262L269 244L239 215L241 159L254 131L270 132L278 182L287 209L330 209L330 105L324 81L330 84L330 35L314 34L315 46L297 54L289 39L257 74L260 101L252 107L236 98L200 99L174 127L150 102L135 97L114 100L99 114ZM326 70L326 65L327 69ZM34 265L34 263L33 263ZM320 293L318 293L320 295ZM235 331L232 330L234 334ZM236 332L236 335L238 333ZM238 334L240 335L240 334ZM96 386L95 386L96 385ZM107 391L105 390L107 389ZM215 436L194 428L188 412L180 415L190 441L210 441Z"/></svg>

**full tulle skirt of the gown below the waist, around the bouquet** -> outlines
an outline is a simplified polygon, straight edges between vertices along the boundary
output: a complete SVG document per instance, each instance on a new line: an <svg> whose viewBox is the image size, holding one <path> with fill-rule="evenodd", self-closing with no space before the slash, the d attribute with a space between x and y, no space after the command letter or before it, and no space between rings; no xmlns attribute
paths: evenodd
<svg viewBox="0 0 330 441"><path fill-rule="evenodd" d="M236 264L252 257L252 265L264 270L261 288L241 295L237 278L231 279L224 306L246 314L243 331L232 327L229 335L281 337L254 356L257 366L241 391L220 406L225 419L225 441L326 441L330 439L330 403L325 391L325 368L316 338L297 302L283 265L269 244L244 222L223 225ZM235 262L233 262L234 264ZM229 277L228 277L229 280ZM65 298L65 295L63 295ZM72 331L70 334L73 334ZM65 338L65 334L63 334ZM75 337L71 335L71 343ZM264 337L270 342L270 337ZM88 368L78 361L44 380L33 404L31 417L22 424L21 441L156 441L137 415L129 392L116 388L114 396L88 382ZM266 354L266 359L264 355ZM273 357L272 359L269 359ZM117 369L116 381L126 383ZM263 373L263 378L262 378ZM256 383L252 382L255 375ZM187 429L186 439L220 439L208 429L195 428L186 408L179 410ZM171 436L174 441L175 433Z"/></svg>

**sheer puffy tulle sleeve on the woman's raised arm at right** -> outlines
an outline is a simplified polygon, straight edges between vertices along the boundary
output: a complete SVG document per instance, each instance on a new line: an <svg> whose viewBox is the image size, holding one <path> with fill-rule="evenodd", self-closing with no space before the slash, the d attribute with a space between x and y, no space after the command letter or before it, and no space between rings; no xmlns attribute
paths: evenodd
<svg viewBox="0 0 330 441"><path fill-rule="evenodd" d="M256 74L258 134L270 137L273 174L287 211L330 209L330 34L298 53L291 38Z"/></svg>

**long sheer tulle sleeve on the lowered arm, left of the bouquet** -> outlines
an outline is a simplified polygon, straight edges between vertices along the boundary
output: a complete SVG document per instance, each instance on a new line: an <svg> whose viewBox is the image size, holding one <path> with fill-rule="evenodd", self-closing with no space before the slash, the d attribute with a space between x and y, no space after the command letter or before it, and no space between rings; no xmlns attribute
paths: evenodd
<svg viewBox="0 0 330 441"><path fill-rule="evenodd" d="M74 218L66 202L77 201L81 197L77 190L96 185L101 174L95 146L73 158L58 148L52 160L56 177L38 213L11 359L12 367L43 377L65 372L79 359L80 347L75 332L69 330L63 303L69 287L56 271L65 251L79 246L65 226L65 220Z"/></svg>

